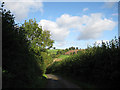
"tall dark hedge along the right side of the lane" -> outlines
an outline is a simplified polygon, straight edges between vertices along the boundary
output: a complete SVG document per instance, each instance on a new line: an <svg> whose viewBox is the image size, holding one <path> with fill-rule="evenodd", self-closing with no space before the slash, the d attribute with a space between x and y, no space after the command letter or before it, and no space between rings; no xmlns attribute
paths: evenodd
<svg viewBox="0 0 120 90"><path fill-rule="evenodd" d="M47 68L47 72L64 73L77 77L79 82L94 84L97 87L119 87L120 46L119 39L101 46L88 47L78 54L55 62Z"/></svg>

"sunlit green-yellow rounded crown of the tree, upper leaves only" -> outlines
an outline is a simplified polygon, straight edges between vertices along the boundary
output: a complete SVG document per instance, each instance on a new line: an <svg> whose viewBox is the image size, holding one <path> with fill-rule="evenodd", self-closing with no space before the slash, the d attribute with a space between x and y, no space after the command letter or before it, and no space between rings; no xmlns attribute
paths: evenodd
<svg viewBox="0 0 120 90"><path fill-rule="evenodd" d="M50 31L42 30L35 19L30 19L28 22L25 20L22 28L25 30L26 38L31 42L33 48L50 49L53 46L54 40L51 39Z"/></svg>

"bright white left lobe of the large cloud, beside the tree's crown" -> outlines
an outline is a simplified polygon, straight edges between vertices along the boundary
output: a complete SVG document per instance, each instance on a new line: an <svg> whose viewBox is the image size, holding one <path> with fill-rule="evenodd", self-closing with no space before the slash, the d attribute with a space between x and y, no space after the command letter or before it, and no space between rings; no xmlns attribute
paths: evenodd
<svg viewBox="0 0 120 90"><path fill-rule="evenodd" d="M68 36L69 30L65 27L60 27L56 22L49 20L41 20L39 25L42 26L43 30L49 30L52 35L52 39L55 41L64 41Z"/></svg>

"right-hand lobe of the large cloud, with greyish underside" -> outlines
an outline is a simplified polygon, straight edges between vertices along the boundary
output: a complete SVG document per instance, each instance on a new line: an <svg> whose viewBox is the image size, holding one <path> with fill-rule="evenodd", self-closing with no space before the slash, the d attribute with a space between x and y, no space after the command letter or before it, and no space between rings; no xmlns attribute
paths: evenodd
<svg viewBox="0 0 120 90"><path fill-rule="evenodd" d="M87 19L86 25L78 37L79 40L96 39L102 35L105 30L113 30L116 23L112 20L102 17L101 13L91 14Z"/></svg>

